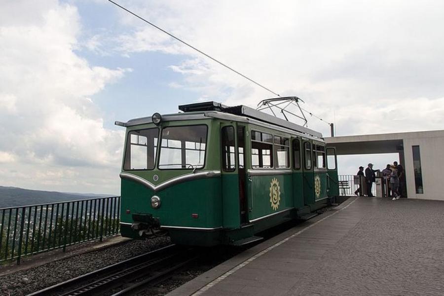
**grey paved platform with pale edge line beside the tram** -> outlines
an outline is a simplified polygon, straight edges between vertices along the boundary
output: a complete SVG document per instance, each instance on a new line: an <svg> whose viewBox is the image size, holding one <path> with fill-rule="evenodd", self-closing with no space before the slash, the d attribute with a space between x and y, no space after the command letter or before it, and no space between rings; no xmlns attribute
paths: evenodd
<svg viewBox="0 0 444 296"><path fill-rule="evenodd" d="M444 202L352 197L176 295L444 295Z"/></svg>

